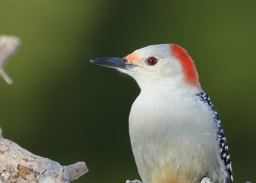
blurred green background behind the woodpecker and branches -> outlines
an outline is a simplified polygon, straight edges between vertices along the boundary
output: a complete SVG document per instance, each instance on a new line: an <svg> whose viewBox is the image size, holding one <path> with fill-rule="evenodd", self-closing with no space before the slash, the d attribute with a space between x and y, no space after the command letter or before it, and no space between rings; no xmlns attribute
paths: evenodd
<svg viewBox="0 0 256 183"><path fill-rule="evenodd" d="M243 3L242 3L243 2ZM140 179L128 116L140 90L95 66L157 43L195 60L228 138L235 182L256 182L256 1L0 1L0 34L22 40L0 80L4 137L90 172L74 182Z"/></svg>

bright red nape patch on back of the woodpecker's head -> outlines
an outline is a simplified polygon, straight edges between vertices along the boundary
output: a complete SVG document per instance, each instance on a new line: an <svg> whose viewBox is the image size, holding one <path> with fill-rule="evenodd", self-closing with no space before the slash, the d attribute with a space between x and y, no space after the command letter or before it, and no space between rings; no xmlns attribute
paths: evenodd
<svg viewBox="0 0 256 183"><path fill-rule="evenodd" d="M185 80L196 87L200 87L194 61L189 56L188 52L179 45L174 44L170 45L170 49L173 57L179 60L182 64L185 73Z"/></svg>

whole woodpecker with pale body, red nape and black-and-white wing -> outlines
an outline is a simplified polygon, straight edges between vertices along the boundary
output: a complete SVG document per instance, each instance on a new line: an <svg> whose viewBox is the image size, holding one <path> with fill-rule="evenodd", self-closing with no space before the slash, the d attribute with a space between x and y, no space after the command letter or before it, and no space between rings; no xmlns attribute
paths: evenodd
<svg viewBox="0 0 256 183"><path fill-rule="evenodd" d="M141 92L132 104L129 133L144 183L232 183L218 113L184 48L151 45L124 58L92 59L130 75Z"/></svg>

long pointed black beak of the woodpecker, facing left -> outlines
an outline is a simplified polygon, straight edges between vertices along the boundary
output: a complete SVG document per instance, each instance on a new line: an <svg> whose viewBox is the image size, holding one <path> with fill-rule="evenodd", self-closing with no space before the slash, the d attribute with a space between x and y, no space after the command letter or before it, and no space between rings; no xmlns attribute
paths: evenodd
<svg viewBox="0 0 256 183"><path fill-rule="evenodd" d="M106 58L99 58L99 59L90 59L90 62L93 64L97 64L100 66L105 66L108 68L121 68L128 70L130 68L133 68L134 64L130 64L127 62L127 59L124 58L116 58L116 57L106 57Z"/></svg>

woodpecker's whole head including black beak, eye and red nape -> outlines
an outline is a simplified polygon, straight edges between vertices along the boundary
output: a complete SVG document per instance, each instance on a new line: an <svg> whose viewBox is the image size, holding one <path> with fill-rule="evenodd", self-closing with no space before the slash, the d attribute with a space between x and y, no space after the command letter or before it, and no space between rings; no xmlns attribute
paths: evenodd
<svg viewBox="0 0 256 183"><path fill-rule="evenodd" d="M123 58L106 57L90 62L131 75L141 88L145 84L166 84L167 81L200 89L195 64L179 45L150 45Z"/></svg>

